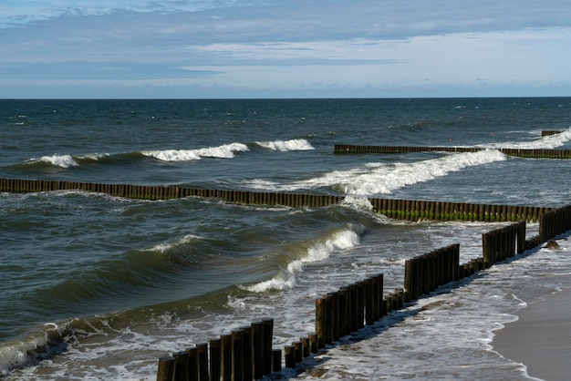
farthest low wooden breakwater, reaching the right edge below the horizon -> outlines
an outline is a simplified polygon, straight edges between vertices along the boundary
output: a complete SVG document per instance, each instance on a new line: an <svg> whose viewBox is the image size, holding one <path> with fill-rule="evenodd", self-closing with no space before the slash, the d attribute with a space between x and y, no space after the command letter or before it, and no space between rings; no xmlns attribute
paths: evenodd
<svg viewBox="0 0 571 381"><path fill-rule="evenodd" d="M355 146L350 144L336 144L333 148L335 154L357 153L412 153L412 152L479 152L486 150L478 147L452 147L452 146ZM519 158L538 159L571 159L571 149L496 149L507 156Z"/></svg>

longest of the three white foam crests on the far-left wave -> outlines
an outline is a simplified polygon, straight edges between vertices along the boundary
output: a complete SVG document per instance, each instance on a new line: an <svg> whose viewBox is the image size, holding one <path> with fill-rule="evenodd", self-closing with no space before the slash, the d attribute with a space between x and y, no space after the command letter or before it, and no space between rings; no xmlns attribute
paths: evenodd
<svg viewBox="0 0 571 381"><path fill-rule="evenodd" d="M248 146L243 143L230 143L218 147L203 149L161 149L145 150L140 153L162 161L192 161L202 158L232 159L234 152L248 151Z"/></svg>

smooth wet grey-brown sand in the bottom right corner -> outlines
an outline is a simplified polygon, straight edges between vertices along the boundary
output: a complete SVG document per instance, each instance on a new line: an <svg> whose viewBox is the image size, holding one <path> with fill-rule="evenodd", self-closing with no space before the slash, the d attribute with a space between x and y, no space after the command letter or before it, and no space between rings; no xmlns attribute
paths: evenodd
<svg viewBox="0 0 571 381"><path fill-rule="evenodd" d="M571 290L548 295L517 315L518 321L495 332L495 350L527 366L529 376L571 379Z"/></svg>

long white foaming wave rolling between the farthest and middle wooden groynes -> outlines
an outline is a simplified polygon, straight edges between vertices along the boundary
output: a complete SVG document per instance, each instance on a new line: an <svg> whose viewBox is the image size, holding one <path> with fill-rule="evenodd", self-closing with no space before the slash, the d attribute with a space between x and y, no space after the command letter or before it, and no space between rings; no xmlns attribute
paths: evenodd
<svg viewBox="0 0 571 381"><path fill-rule="evenodd" d="M446 155L438 159L413 163L368 163L350 170L334 170L322 176L278 184L272 181L257 180L248 182L251 188L264 188L275 191L294 191L319 188L333 188L350 195L387 194L394 190L446 176L450 172L467 167L506 160L498 150L486 149L479 152L462 152Z"/></svg>

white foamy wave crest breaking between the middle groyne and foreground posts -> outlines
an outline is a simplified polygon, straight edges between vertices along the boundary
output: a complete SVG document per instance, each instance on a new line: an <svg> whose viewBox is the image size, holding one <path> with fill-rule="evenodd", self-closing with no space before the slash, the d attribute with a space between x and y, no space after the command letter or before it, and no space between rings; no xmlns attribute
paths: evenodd
<svg viewBox="0 0 571 381"><path fill-rule="evenodd" d="M362 234L363 231L364 228L361 226L351 226L349 229L333 232L322 240L308 242L301 258L288 263L287 267L275 277L252 285L243 285L241 288L253 293L293 289L296 287L296 273L303 272L306 263L323 261L333 252L358 246L359 234Z"/></svg>

